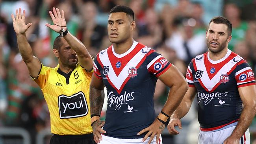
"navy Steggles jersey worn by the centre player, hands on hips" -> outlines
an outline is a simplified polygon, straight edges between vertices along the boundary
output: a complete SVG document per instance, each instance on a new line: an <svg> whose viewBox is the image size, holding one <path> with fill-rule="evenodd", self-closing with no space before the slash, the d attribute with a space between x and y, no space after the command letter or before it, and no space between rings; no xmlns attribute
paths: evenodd
<svg viewBox="0 0 256 144"><path fill-rule="evenodd" d="M124 54L116 54L113 45L99 52L94 74L107 88L108 108L104 135L115 138L143 138L139 131L156 118L154 90L158 76L171 64L160 54L138 42Z"/></svg>

